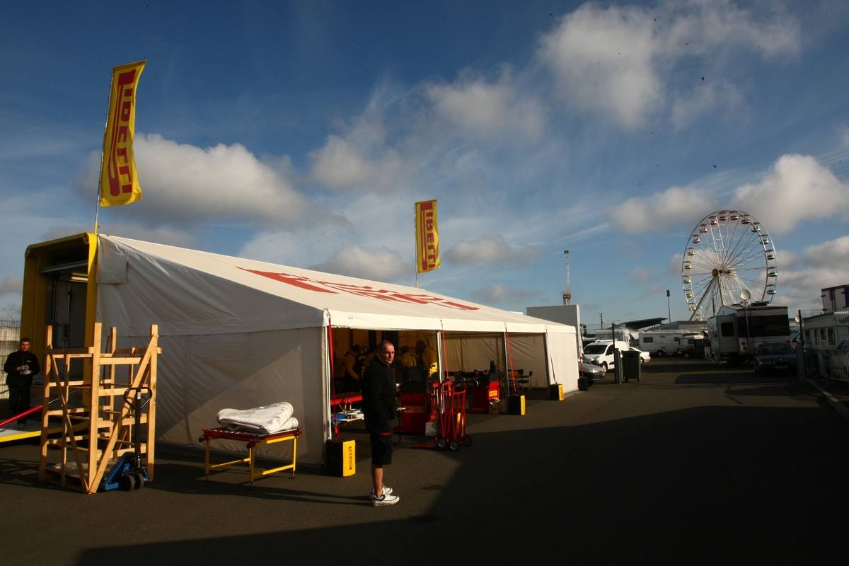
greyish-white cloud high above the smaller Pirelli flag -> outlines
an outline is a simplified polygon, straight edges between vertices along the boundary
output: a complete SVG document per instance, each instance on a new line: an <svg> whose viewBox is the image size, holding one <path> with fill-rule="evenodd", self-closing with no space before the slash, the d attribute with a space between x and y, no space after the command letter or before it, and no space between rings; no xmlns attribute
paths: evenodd
<svg viewBox="0 0 849 566"><path fill-rule="evenodd" d="M536 98L520 96L506 68L494 84L463 77L448 85L430 84L425 92L444 119L487 141L518 135L537 142L543 135L543 105Z"/></svg>

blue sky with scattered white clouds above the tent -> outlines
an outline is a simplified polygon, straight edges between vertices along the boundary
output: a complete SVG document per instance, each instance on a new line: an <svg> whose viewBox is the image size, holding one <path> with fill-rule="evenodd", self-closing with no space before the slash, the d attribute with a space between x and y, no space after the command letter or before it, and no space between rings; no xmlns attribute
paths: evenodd
<svg viewBox="0 0 849 566"><path fill-rule="evenodd" d="M701 218L762 221L774 302L849 283L849 4L0 4L0 317L26 245L90 231L111 69L146 59L144 199L101 232L584 322L689 317ZM5 309L5 311L3 311Z"/></svg>

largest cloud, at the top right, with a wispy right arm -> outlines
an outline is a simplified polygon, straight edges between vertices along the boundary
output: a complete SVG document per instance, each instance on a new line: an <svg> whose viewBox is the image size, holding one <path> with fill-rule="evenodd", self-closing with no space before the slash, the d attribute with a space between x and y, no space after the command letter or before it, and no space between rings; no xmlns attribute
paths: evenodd
<svg viewBox="0 0 849 566"><path fill-rule="evenodd" d="M786 15L756 18L727 1L666 2L655 9L586 3L543 36L539 55L567 104L612 113L616 122L634 128L670 98L678 125L734 100L725 88L683 93L678 102L666 87L679 62L718 59L728 49L748 49L767 59L792 57L801 49L801 32Z"/></svg>

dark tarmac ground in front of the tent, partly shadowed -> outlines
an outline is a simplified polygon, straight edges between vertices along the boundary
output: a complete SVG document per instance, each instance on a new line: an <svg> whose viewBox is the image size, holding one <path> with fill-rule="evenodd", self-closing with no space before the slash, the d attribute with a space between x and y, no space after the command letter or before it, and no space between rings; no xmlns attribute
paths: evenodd
<svg viewBox="0 0 849 566"><path fill-rule="evenodd" d="M36 443L0 445L0 563L845 559L849 421L817 389L673 358L612 375L525 417L470 416L458 452L396 451L395 507L370 507L359 442L351 478L301 468L251 489L158 451L155 482L93 496L39 483Z"/></svg>

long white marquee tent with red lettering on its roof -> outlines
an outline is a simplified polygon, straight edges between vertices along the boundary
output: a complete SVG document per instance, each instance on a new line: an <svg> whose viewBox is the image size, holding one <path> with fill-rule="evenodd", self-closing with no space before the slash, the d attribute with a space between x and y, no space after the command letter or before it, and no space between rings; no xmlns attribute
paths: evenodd
<svg viewBox="0 0 849 566"><path fill-rule="evenodd" d="M194 444L223 408L289 401L304 431L299 461L321 462L331 434L329 327L430 331L443 371L512 361L535 370L537 387L577 389L575 328L424 289L104 235L97 283L97 320L118 329L120 345L159 324L156 429L169 443ZM289 450L275 446L266 453Z"/></svg>

